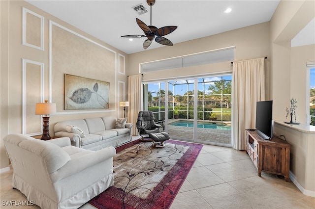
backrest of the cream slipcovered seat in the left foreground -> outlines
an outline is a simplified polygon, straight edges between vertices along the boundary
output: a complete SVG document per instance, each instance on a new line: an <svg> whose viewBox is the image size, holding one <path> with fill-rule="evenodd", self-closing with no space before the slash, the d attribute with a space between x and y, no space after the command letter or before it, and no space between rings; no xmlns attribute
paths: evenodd
<svg viewBox="0 0 315 209"><path fill-rule="evenodd" d="M13 179L25 181L25 185L32 185L46 195L55 194L50 174L63 167L70 156L53 143L23 134L9 134L3 142L12 163L13 176L16 176Z"/></svg>

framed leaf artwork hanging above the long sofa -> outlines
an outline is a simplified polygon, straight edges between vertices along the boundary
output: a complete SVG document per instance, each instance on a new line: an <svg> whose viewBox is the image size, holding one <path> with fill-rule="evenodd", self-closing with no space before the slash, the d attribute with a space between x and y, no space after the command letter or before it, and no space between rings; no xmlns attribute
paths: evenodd
<svg viewBox="0 0 315 209"><path fill-rule="evenodd" d="M108 109L109 82L64 74L64 109Z"/></svg>

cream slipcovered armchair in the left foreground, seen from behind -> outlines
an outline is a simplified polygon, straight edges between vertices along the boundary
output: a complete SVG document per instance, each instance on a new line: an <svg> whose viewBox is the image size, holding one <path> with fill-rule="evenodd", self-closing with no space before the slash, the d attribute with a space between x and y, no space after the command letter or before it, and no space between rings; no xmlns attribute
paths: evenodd
<svg viewBox="0 0 315 209"><path fill-rule="evenodd" d="M114 147L89 151L68 137L47 141L22 134L3 138L12 185L42 209L77 209L113 185Z"/></svg>

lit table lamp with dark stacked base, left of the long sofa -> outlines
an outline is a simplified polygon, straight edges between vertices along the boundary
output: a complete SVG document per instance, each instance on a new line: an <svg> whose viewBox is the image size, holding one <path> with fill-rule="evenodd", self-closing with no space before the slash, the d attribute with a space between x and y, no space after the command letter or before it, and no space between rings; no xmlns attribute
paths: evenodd
<svg viewBox="0 0 315 209"><path fill-rule="evenodd" d="M45 115L43 116L43 135L40 139L48 140L51 139L49 135L49 116L56 112L56 103L47 103L48 101L45 100L45 103L36 103L35 106L35 115Z"/></svg>

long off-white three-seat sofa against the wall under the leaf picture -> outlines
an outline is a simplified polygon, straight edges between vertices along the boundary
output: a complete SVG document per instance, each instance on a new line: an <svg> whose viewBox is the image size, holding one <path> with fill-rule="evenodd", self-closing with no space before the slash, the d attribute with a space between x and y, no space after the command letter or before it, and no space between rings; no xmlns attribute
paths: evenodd
<svg viewBox="0 0 315 209"><path fill-rule="evenodd" d="M108 116L101 118L86 118L78 120L61 121L55 124L55 136L69 137L71 145L86 150L100 150L105 147L117 147L132 140L131 123L125 128L116 128L117 118ZM79 127L85 137L67 130L67 126Z"/></svg>

